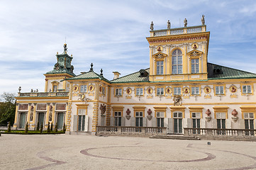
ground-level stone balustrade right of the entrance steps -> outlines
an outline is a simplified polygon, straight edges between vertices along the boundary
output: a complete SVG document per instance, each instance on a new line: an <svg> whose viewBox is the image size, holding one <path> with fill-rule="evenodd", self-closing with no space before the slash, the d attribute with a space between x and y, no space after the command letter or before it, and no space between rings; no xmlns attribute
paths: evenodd
<svg viewBox="0 0 256 170"><path fill-rule="evenodd" d="M213 129L213 128L184 128L184 135L256 136L256 130L247 130L247 129Z"/></svg>

